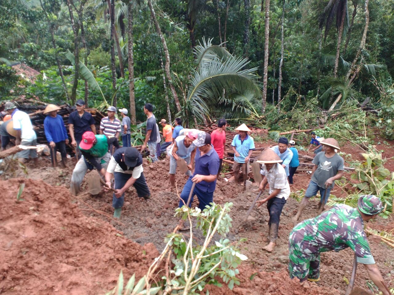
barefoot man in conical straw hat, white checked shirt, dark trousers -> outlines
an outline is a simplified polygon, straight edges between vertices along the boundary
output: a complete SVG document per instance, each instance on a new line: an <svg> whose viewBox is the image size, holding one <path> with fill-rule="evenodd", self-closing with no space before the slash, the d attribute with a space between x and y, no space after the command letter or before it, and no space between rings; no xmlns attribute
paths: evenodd
<svg viewBox="0 0 394 295"><path fill-rule="evenodd" d="M263 164L262 171L264 171L265 175L260 183L259 190L263 190L267 183L269 185L268 197L258 201L258 206L267 203L269 213L269 244L263 249L272 252L278 238L279 218L281 217L283 206L290 195L290 186L287 181L286 171L281 165L282 160L274 151L271 149L264 150L258 156L257 162Z"/></svg>

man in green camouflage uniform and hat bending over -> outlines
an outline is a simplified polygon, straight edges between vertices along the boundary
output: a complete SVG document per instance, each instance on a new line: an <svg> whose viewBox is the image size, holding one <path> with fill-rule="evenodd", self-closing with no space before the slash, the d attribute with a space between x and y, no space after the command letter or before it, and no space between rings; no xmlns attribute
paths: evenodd
<svg viewBox="0 0 394 295"><path fill-rule="evenodd" d="M374 219L381 210L379 198L362 195L357 208L337 205L318 217L297 224L289 237L290 278L318 282L320 253L331 250L338 252L350 247L355 251L357 262L364 264L375 285L384 295L389 295L364 232L364 221Z"/></svg>

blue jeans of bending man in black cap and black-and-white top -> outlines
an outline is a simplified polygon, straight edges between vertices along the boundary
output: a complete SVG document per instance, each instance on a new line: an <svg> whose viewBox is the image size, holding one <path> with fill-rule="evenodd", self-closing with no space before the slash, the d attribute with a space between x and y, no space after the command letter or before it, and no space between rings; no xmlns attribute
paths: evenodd
<svg viewBox="0 0 394 295"><path fill-rule="evenodd" d="M132 176L132 174L126 174L122 172L115 172L113 173L113 175L115 177L115 190L123 188L123 186L125 186L126 182ZM136 180L133 186L137 190L138 197L140 198L143 197L145 199L148 199L148 197L151 195L151 192L149 192L149 188L145 180L144 173L141 173L141 176ZM115 197L115 194L113 194L112 197L113 208L122 208L124 202L125 202L125 194L123 194L120 198Z"/></svg>

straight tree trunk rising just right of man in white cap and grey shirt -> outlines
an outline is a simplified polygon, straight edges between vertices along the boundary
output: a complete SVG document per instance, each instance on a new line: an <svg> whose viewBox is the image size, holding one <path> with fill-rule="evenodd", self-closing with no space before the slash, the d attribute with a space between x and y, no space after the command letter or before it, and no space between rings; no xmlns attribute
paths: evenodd
<svg viewBox="0 0 394 295"><path fill-rule="evenodd" d="M130 95L130 117L131 124L137 124L136 118L136 99L134 96L134 52L133 52L133 20L134 20L134 1L130 1L127 5L128 12L128 89Z"/></svg>

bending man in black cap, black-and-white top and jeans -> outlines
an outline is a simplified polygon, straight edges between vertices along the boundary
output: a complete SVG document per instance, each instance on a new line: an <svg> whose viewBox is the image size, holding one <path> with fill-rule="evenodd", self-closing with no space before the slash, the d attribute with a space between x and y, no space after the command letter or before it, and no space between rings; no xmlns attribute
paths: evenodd
<svg viewBox="0 0 394 295"><path fill-rule="evenodd" d="M120 218L125 192L130 186L137 190L138 197L145 200L151 198L142 168L142 156L135 147L121 147L113 153L105 173L106 190L111 187L112 175L115 176L115 190L112 206L115 209L113 217Z"/></svg>

